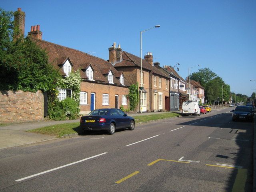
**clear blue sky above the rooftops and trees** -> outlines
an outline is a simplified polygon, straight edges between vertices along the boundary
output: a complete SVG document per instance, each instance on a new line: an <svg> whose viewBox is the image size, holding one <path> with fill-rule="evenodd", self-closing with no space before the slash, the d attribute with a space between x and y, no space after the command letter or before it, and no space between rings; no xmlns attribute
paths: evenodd
<svg viewBox="0 0 256 192"><path fill-rule="evenodd" d="M140 56L140 31L160 25L143 33L143 56L179 62L183 78L189 67L208 67L236 94L256 89L256 0L1 0L0 7L22 8L25 34L39 24L43 40L105 60L113 42Z"/></svg>

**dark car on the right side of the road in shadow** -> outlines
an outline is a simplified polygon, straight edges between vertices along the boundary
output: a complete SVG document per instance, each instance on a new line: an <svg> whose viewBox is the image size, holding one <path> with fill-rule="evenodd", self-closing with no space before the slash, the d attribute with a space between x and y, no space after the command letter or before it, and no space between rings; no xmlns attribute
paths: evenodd
<svg viewBox="0 0 256 192"><path fill-rule="evenodd" d="M252 121L254 115L254 110L250 106L237 106L235 110L233 109L232 120L246 120Z"/></svg>

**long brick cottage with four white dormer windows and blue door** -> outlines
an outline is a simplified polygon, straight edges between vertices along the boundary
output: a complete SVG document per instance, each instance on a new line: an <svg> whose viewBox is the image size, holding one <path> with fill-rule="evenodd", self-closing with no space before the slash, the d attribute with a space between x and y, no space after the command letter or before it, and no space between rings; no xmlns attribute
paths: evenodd
<svg viewBox="0 0 256 192"><path fill-rule="evenodd" d="M20 11L21 9L18 9L16 14ZM25 20L25 14L21 14L18 19ZM79 50L42 40L39 25L31 26L28 36L40 48L48 52L48 62L59 70L63 78L69 76L70 72L80 69L81 114L87 114L95 108L119 108L121 105L125 109L129 108L126 95L129 93L130 83L124 78L123 72L116 70L110 62ZM72 95L70 89L60 87L58 90L59 100Z"/></svg>

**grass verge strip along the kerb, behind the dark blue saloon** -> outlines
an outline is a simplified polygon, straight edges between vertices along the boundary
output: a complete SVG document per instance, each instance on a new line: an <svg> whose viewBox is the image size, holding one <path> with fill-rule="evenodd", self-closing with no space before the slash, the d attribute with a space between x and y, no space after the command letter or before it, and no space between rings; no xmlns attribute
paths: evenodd
<svg viewBox="0 0 256 192"><path fill-rule="evenodd" d="M155 114L155 115L134 116L133 118L135 119L135 124L136 124L136 123L140 123L140 122L148 122L148 121L152 121L152 120L176 117L177 115L178 115L177 113L163 113L163 114ZM56 124L56 125L52 125L52 126L28 130L27 132L62 137L67 134L82 133L83 131L80 129L79 124L80 124L79 122Z"/></svg>

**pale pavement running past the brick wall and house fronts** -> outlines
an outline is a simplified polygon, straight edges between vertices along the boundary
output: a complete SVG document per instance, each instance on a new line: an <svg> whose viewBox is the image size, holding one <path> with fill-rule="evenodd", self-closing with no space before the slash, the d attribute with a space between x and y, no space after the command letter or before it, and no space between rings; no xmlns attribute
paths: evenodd
<svg viewBox="0 0 256 192"><path fill-rule="evenodd" d="M152 115L152 114L163 114L167 112L145 112L145 113L132 113L128 116L140 116L140 115ZM63 124L63 123L73 123L79 122L80 118L76 120L64 120L64 121L54 121L54 120L44 120L40 122L27 122L27 123L16 123L7 124L0 126L0 149L21 146L26 144L33 144L37 142L44 142L56 138L56 136L48 136L37 133L26 132L27 130L32 130L36 128Z"/></svg>

